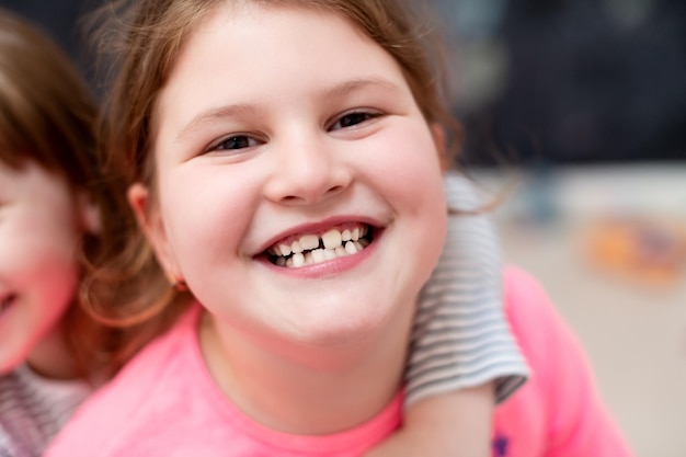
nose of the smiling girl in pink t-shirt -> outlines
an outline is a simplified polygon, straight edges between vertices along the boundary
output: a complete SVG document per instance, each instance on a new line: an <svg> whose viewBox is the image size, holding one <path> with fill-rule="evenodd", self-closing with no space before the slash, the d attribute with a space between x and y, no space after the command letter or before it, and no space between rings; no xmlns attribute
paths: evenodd
<svg viewBox="0 0 686 457"><path fill-rule="evenodd" d="M311 205L345 191L352 173L329 141L333 140L310 138L276 146L266 197L281 204Z"/></svg>

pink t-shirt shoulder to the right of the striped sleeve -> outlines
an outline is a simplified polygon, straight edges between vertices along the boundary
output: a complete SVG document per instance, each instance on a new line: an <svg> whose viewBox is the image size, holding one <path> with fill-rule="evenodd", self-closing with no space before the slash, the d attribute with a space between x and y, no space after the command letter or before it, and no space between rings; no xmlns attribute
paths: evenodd
<svg viewBox="0 0 686 457"><path fill-rule="evenodd" d="M504 296L507 320L531 376L505 404L501 425L531 429L537 418L539 444L551 456L631 455L598 395L580 341L542 287L522 270L507 267ZM527 414L528 420L522 419Z"/></svg>

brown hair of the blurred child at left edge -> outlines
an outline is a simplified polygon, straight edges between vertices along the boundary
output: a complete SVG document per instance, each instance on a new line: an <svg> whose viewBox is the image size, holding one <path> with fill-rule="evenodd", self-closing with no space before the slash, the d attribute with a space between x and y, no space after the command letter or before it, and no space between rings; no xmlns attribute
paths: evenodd
<svg viewBox="0 0 686 457"><path fill-rule="evenodd" d="M90 198L113 217L116 193L100 175L96 103L66 54L27 20L0 9L0 161L21 171L33 161L65 179L73 198ZM85 231L85 230L84 230ZM83 275L105 255L105 233L83 233ZM78 295L78 294L77 294ZM65 336L80 374L89 377L105 346L105 332L76 298L65 316Z"/></svg>

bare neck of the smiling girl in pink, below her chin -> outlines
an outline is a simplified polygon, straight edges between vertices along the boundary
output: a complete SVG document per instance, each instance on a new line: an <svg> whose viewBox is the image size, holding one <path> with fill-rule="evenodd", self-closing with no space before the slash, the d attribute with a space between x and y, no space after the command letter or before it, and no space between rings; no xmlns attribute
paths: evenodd
<svg viewBox="0 0 686 457"><path fill-rule="evenodd" d="M370 420L397 395L409 308L384 331L335 347L264 344L206 315L201 347L215 381L243 413L285 433L330 434Z"/></svg>

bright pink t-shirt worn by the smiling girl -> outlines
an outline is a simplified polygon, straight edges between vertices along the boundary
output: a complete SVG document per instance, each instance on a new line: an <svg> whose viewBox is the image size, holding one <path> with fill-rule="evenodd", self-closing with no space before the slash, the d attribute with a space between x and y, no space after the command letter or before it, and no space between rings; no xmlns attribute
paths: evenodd
<svg viewBox="0 0 686 457"><path fill-rule="evenodd" d="M631 453L599 400L588 365L542 290L505 272L512 330L531 377L499 407L494 457L625 457ZM211 380L197 344L197 308L96 392L47 457L359 456L401 423L402 396L358 427L295 436L243 415Z"/></svg>

